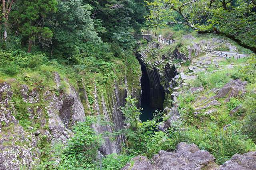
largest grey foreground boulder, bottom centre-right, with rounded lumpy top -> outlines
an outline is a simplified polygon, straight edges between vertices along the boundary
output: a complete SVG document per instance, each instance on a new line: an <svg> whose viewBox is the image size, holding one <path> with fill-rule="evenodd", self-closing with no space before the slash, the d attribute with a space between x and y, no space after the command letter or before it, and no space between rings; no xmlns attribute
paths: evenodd
<svg viewBox="0 0 256 170"><path fill-rule="evenodd" d="M122 170L217 170L215 158L206 150L200 150L194 143L181 142L175 152L160 150L152 159L136 156L133 166L127 163Z"/></svg>

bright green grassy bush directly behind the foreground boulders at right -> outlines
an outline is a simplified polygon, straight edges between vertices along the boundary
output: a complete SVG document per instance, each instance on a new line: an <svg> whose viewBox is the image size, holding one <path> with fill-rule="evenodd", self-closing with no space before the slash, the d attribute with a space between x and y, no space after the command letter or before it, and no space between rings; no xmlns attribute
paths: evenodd
<svg viewBox="0 0 256 170"><path fill-rule="evenodd" d="M201 150L208 150L216 158L217 164L223 164L236 153L244 154L255 149L252 140L232 126L223 131L215 123L210 123L205 129L187 127L186 131L180 131L180 135L182 141L194 143Z"/></svg>

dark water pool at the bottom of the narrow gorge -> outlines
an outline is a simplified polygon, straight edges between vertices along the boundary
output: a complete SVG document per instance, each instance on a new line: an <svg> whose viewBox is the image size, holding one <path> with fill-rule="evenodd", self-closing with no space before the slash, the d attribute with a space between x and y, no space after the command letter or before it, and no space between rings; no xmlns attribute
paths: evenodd
<svg viewBox="0 0 256 170"><path fill-rule="evenodd" d="M147 121L147 120L152 120L154 118L153 113L157 110L156 108L150 107L150 105L147 104L147 102L144 100L141 101L140 107L143 108L143 110L141 111L141 114L140 114L140 120L142 122ZM158 111L159 111L159 109L158 109Z"/></svg>

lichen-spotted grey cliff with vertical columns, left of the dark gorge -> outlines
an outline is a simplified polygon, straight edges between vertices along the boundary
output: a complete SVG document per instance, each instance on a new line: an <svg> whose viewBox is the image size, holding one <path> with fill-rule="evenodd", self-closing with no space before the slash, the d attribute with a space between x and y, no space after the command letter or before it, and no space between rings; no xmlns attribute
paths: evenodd
<svg viewBox="0 0 256 170"><path fill-rule="evenodd" d="M61 80L57 72L54 72L54 80L57 88L63 88L59 92L37 87L31 89L28 85L20 85L16 80L14 80L15 88L7 82L0 83L1 170L19 169L20 165L17 161L26 161L28 167L32 166L32 163L35 164L40 158L38 145L45 145L44 143L55 145L60 142L66 145L67 140L73 136L72 126L77 122L85 121L86 115L101 115L104 120L112 123L113 126L92 125L96 133L111 133L122 129L123 117L119 106L125 105L125 98L128 95L140 101L140 86L130 87L126 78L122 82L115 81L112 88L108 88L104 94L97 91L95 84L89 94L84 80L77 82L78 88L74 88L68 80ZM13 96L14 91L15 96ZM89 102L89 95L90 100L93 101ZM15 102L10 102L12 99ZM24 125L24 121L22 123L17 121L14 115L19 114L26 116L24 119L30 122L25 121ZM110 136L105 135L105 141L102 141L99 149L102 154L121 151L125 138L123 135L115 138L110 140ZM10 153L13 152L20 154L11 155ZM27 156L27 153L31 156Z"/></svg>

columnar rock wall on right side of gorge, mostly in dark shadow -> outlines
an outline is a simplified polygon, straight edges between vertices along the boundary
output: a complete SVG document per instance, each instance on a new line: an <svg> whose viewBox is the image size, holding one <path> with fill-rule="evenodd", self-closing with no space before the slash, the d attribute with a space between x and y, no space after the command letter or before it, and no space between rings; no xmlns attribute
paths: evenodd
<svg viewBox="0 0 256 170"><path fill-rule="evenodd" d="M154 47L154 44L152 45ZM151 107L163 109L165 94L171 94L174 88L174 76L178 74L174 64L166 61L166 57L152 63L148 55L154 51L150 47L137 53L142 70L142 100Z"/></svg>

